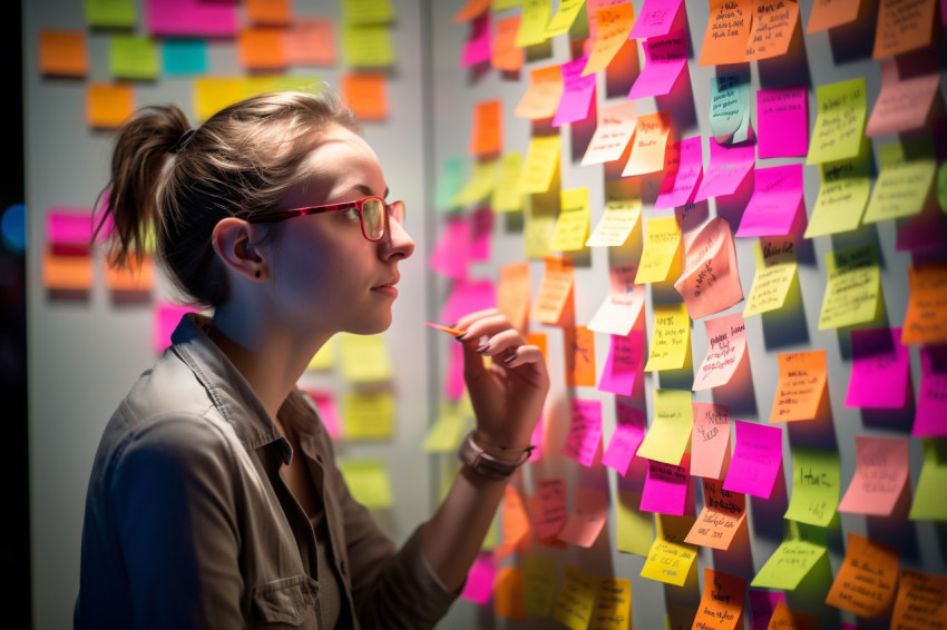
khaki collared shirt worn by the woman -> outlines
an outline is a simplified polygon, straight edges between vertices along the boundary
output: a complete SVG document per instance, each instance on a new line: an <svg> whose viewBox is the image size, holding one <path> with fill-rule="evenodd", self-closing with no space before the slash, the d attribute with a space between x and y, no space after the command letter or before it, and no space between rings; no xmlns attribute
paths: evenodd
<svg viewBox="0 0 947 630"><path fill-rule="evenodd" d="M262 403L185 316L173 345L109 421L92 466L75 627L319 628L320 579L338 581L340 628L431 628L456 593L416 531L398 550L335 466L307 396L279 412L325 510L333 575L280 476L293 456ZM296 454L299 456L299 454Z"/></svg>

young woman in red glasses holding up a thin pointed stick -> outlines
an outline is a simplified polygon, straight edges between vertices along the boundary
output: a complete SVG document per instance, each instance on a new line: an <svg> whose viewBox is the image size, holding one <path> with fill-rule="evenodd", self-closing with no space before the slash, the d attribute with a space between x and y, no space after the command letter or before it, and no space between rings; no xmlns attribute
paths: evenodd
<svg viewBox="0 0 947 630"><path fill-rule="evenodd" d="M455 324L477 429L443 503L397 549L295 386L335 333L389 327L414 248L348 108L328 88L265 95L196 130L176 107L145 108L118 134L109 188L118 260L154 222L169 277L213 315L180 321L105 430L76 628L432 627L528 456L539 350L497 311Z"/></svg>

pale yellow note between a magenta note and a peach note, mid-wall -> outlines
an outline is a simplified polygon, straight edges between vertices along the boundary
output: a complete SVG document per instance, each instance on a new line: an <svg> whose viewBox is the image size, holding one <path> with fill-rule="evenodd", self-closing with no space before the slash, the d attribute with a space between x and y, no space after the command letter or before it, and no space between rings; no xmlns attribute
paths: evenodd
<svg viewBox="0 0 947 630"><path fill-rule="evenodd" d="M636 455L665 464L680 465L691 443L694 414L691 392L654 391L654 421L644 435Z"/></svg>

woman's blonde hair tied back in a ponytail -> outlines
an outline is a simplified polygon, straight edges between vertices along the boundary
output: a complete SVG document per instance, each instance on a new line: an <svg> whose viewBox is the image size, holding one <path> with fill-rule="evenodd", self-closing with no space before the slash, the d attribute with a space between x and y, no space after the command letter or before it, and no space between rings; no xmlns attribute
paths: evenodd
<svg viewBox="0 0 947 630"><path fill-rule="evenodd" d="M96 234L111 220L113 264L128 265L140 263L153 224L158 262L184 298L218 306L230 287L211 245L214 226L272 209L303 183L305 159L330 125L359 132L324 85L248 98L193 131L174 105L141 108L118 131Z"/></svg>

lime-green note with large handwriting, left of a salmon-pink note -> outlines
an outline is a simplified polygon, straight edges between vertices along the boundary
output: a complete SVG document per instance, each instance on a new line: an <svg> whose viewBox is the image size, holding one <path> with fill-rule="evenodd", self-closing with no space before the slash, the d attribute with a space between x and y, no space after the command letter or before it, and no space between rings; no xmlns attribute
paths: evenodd
<svg viewBox="0 0 947 630"><path fill-rule="evenodd" d="M792 450L792 498L785 518L826 528L839 506L839 454L798 446Z"/></svg>

